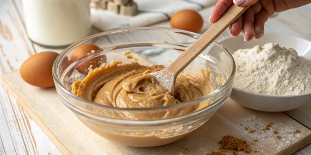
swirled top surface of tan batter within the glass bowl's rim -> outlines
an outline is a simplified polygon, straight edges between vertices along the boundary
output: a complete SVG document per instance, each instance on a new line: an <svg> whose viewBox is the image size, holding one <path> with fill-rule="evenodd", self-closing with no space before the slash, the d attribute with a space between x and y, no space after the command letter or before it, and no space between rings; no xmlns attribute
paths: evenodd
<svg viewBox="0 0 311 155"><path fill-rule="evenodd" d="M210 91L209 72L179 75L174 96L159 85L150 72L163 65L143 66L137 62L111 62L90 71L85 79L72 84L72 93L97 104L119 108L152 108L197 99ZM197 108L197 107L196 107ZM195 107L187 112L196 110ZM140 118L142 119L142 118Z"/></svg>

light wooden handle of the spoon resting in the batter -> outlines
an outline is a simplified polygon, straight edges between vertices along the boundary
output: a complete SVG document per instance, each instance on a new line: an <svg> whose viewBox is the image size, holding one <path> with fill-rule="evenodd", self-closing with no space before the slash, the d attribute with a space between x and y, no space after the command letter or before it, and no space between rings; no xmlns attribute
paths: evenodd
<svg viewBox="0 0 311 155"><path fill-rule="evenodd" d="M223 33L248 7L237 7L232 5L207 31L198 38L186 51L184 51L165 70L175 73L177 76L198 55L202 53L216 38Z"/></svg>

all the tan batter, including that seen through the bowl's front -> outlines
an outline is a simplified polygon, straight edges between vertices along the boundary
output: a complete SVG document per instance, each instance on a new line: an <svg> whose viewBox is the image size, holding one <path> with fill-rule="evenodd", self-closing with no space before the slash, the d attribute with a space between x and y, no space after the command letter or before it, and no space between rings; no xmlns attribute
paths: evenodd
<svg viewBox="0 0 311 155"><path fill-rule="evenodd" d="M170 93L160 86L155 77L149 75L164 69L163 65L143 66L137 62L122 64L112 61L100 68L91 70L86 78L72 84L72 93L97 104L120 108L151 108L162 107L173 104L182 104L206 95L211 91L210 72L199 70L198 73L181 73L176 79L175 93ZM120 112L117 117L127 119L146 120L167 118L186 113L191 113L202 107L206 107L208 101L202 101L197 105L190 105L180 109L170 109L154 113L129 113ZM111 117L114 114L111 114ZM110 115L109 115L110 116ZM171 134L169 137L159 137L163 133L152 132L150 135L143 133L119 133L117 131L105 131L99 126L94 126L90 120L81 121L97 134L119 144L136 147L159 146L179 140L195 129L181 134ZM157 129L158 131L159 129ZM172 131L177 131L172 128ZM170 132L169 132L170 133Z"/></svg>

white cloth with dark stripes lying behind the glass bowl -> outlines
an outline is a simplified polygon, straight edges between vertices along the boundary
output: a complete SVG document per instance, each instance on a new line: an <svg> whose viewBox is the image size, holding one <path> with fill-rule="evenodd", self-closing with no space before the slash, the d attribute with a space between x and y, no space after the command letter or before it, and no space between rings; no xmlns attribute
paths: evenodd
<svg viewBox="0 0 311 155"><path fill-rule="evenodd" d="M102 31L111 29L148 26L169 20L174 13L182 9L200 10L214 5L217 0L134 0L138 6L135 16L117 15L102 9L91 9L94 27Z"/></svg>

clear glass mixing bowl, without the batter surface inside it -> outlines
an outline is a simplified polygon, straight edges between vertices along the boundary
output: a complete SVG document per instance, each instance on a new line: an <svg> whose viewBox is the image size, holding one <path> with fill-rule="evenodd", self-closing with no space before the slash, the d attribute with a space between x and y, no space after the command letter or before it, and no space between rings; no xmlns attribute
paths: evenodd
<svg viewBox="0 0 311 155"><path fill-rule="evenodd" d="M105 55L111 60L131 62L123 55L131 51L134 60L143 65L168 66L200 35L179 29L138 27L118 29L92 35L67 47L53 64L53 78L60 100L77 118L98 135L110 141L134 147L151 147L169 144L195 131L207 122L228 99L233 85L235 63L230 53L213 42L197 57L185 72L208 69L213 90L195 100L156 108L117 108L83 100L71 93L73 82L86 74L77 72L77 66ZM78 45L92 43L101 49L70 63L68 57ZM137 59L135 59L135 57ZM196 107L189 113L178 113L184 108ZM136 116L159 115L177 112L169 117Z"/></svg>

